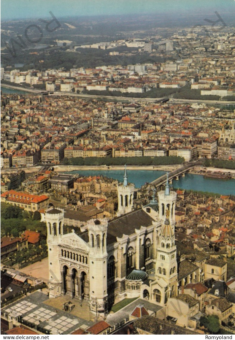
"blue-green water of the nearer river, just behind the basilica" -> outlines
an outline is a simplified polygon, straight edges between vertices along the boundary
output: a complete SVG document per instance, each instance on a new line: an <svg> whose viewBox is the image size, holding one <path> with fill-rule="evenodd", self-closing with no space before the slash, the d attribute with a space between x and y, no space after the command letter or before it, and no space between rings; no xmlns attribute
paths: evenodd
<svg viewBox="0 0 235 340"><path fill-rule="evenodd" d="M123 181L123 171L121 170L81 170L70 171L69 173L79 173L81 176L103 175L112 177L118 181ZM146 182L150 183L164 175L165 171L156 170L128 170L128 182L134 183L136 188L140 188ZM196 190L204 192L213 192L221 195L235 195L235 179L218 180L204 178L202 175L187 173L185 177L180 176L179 181L173 181L174 189Z"/></svg>

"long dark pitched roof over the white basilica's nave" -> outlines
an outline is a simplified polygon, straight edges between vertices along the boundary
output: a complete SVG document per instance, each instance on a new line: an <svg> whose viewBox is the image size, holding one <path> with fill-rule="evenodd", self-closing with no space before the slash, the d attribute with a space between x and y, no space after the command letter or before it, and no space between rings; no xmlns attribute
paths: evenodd
<svg viewBox="0 0 235 340"><path fill-rule="evenodd" d="M153 221L144 210L135 210L109 222L108 233L121 238L123 234L134 234L135 229L140 229L141 226L148 227L152 225Z"/></svg>

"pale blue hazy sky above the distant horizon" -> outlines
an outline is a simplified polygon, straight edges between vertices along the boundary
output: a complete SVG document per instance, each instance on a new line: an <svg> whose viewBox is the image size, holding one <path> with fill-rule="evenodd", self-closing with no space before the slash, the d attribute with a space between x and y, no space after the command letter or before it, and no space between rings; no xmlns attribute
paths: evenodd
<svg viewBox="0 0 235 340"><path fill-rule="evenodd" d="M1 20L114 14L235 13L235 0L1 0Z"/></svg>

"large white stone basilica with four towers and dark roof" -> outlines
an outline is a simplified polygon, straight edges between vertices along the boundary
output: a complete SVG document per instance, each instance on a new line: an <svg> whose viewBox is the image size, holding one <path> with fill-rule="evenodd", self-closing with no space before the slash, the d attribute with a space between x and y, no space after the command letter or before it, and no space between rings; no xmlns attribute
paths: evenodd
<svg viewBox="0 0 235 340"><path fill-rule="evenodd" d="M91 219L78 235L63 234L64 211L45 212L49 259L49 297L68 294L91 312L105 316L126 297L143 297L164 306L177 295L175 203L166 183L146 206L133 211L134 184L117 186L117 217Z"/></svg>

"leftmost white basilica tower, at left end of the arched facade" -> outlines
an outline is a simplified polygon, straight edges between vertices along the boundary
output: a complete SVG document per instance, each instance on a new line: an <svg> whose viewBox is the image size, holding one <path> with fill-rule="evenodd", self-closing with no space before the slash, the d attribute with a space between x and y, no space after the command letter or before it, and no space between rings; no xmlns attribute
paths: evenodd
<svg viewBox="0 0 235 340"><path fill-rule="evenodd" d="M61 295L62 278L58 245L63 235L64 210L48 209L45 211L47 224L47 246L49 262L49 298Z"/></svg>

